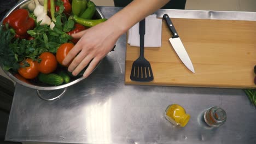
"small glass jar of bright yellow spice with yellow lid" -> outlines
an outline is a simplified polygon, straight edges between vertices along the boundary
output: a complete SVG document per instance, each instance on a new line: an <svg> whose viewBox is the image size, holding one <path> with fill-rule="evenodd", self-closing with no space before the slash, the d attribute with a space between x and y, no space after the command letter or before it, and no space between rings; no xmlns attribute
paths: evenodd
<svg viewBox="0 0 256 144"><path fill-rule="evenodd" d="M169 105L165 110L165 117L172 124L181 125L181 127L185 127L190 119L190 115L178 104Z"/></svg>

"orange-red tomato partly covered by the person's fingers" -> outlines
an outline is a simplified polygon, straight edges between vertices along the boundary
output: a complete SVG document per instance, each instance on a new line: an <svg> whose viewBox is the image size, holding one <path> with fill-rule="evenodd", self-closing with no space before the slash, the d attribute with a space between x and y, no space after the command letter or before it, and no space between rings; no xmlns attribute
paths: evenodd
<svg viewBox="0 0 256 144"><path fill-rule="evenodd" d="M64 43L62 45L60 45L59 49L57 49L57 52L56 52L56 58L57 58L57 61L61 64L63 62L63 59L67 56L68 52L74 47L74 44L72 43ZM70 62L71 63L71 62ZM69 64L70 64L69 63ZM65 67L68 67L68 65L63 65Z"/></svg>

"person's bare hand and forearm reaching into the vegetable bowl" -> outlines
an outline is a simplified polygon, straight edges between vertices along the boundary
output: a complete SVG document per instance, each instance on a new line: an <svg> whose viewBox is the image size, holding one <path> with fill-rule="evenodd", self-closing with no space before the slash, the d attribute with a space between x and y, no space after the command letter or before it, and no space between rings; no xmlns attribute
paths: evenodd
<svg viewBox="0 0 256 144"><path fill-rule="evenodd" d="M122 34L168 1L170 0L134 0L107 21L73 34L73 38L80 38L80 40L69 51L62 64L67 65L73 59L68 71L72 71L76 76L90 63L83 75L88 77L98 62L112 50Z"/></svg>

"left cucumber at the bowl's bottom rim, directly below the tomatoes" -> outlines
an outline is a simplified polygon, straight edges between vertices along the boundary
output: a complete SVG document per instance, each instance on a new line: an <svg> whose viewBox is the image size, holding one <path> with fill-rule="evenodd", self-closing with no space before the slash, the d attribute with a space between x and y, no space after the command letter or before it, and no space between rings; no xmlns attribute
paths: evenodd
<svg viewBox="0 0 256 144"><path fill-rule="evenodd" d="M58 86L63 83L63 78L60 75L57 74L42 74L40 73L38 75L38 79L40 82L49 84L49 85L54 85Z"/></svg>

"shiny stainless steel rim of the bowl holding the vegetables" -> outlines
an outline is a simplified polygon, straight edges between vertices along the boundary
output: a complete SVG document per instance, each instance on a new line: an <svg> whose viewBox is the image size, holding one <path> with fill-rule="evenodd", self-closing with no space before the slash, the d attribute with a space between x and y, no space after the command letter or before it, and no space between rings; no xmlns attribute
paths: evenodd
<svg viewBox="0 0 256 144"><path fill-rule="evenodd" d="M8 16L12 11L14 11L15 9L19 9L22 4L25 4L25 3L28 2L28 1L30 1L30 0L24 0L24 1L20 1L19 3L17 3L13 8L11 8L11 9L8 11L8 13L4 16L4 18L7 17L7 16ZM4 18L3 18L3 19L4 19ZM94 19L101 19L101 18L104 18L104 16L103 16L103 14L101 13L101 11L100 11L98 8L96 8L96 12L95 12L95 15L94 15ZM1 21L1 25L2 25L2 22L3 22L3 20ZM8 59L7 59L7 61L8 61ZM98 65L99 65L99 64L100 64L100 63L98 63ZM96 66L96 68L98 67L98 65ZM95 69L96 69L96 68L95 68ZM83 76L81 76L81 77L77 77L76 79L73 79L73 80L72 80L71 82L69 82L69 83L66 83L66 84L63 84L63 85L60 85L60 86L50 86L50 85L44 85L44 84L39 83L39 82L31 82L31 84L28 84L28 83L26 83L26 82L23 82L23 81L17 79L17 78L16 78L13 74L11 74L9 71L5 71L5 70L4 70L4 72L5 72L12 80L14 80L15 82L19 83L20 85L25 86L25 87L29 87L29 88L33 88L33 89L37 89L37 90L38 90L37 92L38 92L39 97L40 97L39 90L40 90L40 91L50 91L50 90L55 90L55 89L62 89L62 88L66 88L66 87L68 87L68 86L74 85L75 83L77 83L77 82L82 81L82 80L85 79ZM66 91L66 89L65 89L65 91ZM65 91L64 91L64 92L65 92Z"/></svg>

